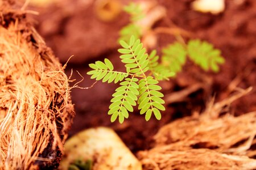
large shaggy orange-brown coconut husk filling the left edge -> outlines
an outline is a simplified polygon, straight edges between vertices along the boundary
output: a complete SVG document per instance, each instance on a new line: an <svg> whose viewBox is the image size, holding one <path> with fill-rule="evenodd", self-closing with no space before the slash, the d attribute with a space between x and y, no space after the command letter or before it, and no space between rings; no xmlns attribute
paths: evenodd
<svg viewBox="0 0 256 170"><path fill-rule="evenodd" d="M56 168L75 114L69 79L29 12L0 1L0 169Z"/></svg>

